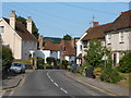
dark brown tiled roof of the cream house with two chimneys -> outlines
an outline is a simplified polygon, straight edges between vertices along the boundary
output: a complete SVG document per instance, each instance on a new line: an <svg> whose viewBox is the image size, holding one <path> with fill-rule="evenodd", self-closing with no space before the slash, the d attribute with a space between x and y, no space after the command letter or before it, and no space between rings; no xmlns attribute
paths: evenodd
<svg viewBox="0 0 131 98"><path fill-rule="evenodd" d="M9 20L3 17L4 21L9 24ZM15 22L15 32L24 40L37 41L36 37L32 35L21 22Z"/></svg>

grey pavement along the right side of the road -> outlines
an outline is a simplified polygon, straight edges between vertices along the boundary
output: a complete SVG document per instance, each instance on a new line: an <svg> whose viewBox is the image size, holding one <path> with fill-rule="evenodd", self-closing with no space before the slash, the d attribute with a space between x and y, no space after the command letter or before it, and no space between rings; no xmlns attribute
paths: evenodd
<svg viewBox="0 0 131 98"><path fill-rule="evenodd" d="M79 76L74 73L71 73L69 71L66 72L66 75L76 79L85 85L90 85L96 89L99 89L102 91L111 94L112 96L129 96L129 88L124 88L124 87L120 87L116 84L110 84L110 83L104 83L94 78L88 78L88 77L84 77L84 76Z"/></svg>

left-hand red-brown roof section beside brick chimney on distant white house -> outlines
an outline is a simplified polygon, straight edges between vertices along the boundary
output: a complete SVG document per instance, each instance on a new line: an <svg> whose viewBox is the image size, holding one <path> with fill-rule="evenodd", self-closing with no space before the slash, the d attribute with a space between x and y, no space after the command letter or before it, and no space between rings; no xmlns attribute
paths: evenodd
<svg viewBox="0 0 131 98"><path fill-rule="evenodd" d="M52 44L50 41L44 41L44 50L60 51L60 44Z"/></svg>

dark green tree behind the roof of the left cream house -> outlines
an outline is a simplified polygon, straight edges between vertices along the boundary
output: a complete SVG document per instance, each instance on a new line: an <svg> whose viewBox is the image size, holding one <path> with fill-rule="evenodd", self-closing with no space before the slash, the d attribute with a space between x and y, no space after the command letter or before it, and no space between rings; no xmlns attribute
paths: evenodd
<svg viewBox="0 0 131 98"><path fill-rule="evenodd" d="M16 16L16 21L22 22L26 26L26 19L22 16ZM38 39L38 28L36 27L35 23L33 22L33 35Z"/></svg>

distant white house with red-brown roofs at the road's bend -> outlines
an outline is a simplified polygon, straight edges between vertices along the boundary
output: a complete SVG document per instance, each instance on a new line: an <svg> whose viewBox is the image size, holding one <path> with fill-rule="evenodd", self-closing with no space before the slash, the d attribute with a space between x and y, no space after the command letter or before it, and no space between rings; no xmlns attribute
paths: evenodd
<svg viewBox="0 0 131 98"><path fill-rule="evenodd" d="M61 40L60 44L52 44L50 41L45 41L41 35L38 40L39 50L37 51L37 57L44 58L45 62L48 57L52 57L56 60L61 59L70 62L75 61L74 42L70 40Z"/></svg>

